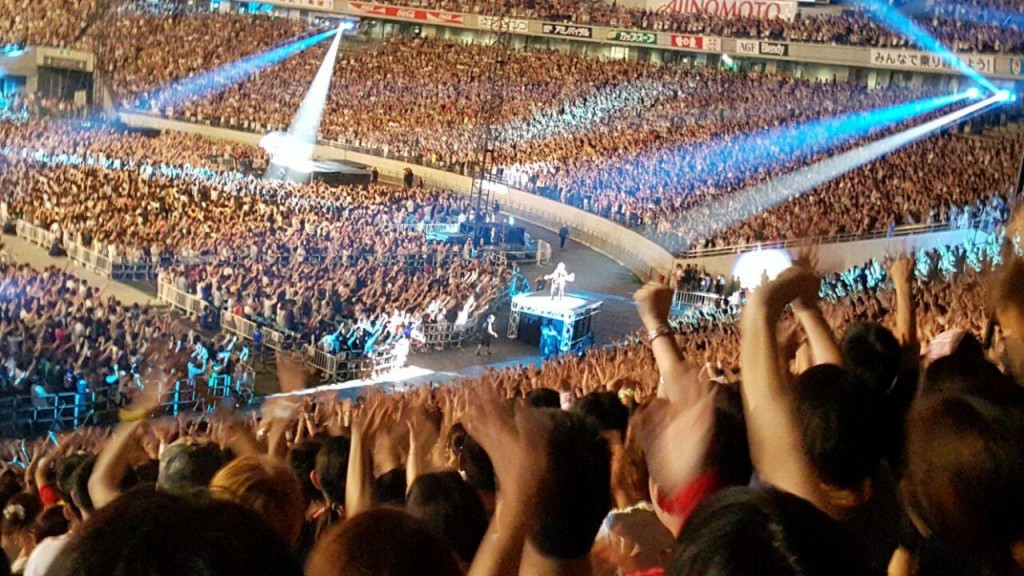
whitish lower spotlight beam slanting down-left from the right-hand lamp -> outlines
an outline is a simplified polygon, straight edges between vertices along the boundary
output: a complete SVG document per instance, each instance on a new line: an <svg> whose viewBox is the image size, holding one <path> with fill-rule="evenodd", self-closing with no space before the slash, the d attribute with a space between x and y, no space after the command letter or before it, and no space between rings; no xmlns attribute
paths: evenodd
<svg viewBox="0 0 1024 576"><path fill-rule="evenodd" d="M719 219L692 218L695 228L687 232L692 234L694 238L710 238L754 217L760 212L810 192L872 160L914 142L932 132L962 122L988 107L1005 102L1006 99L1000 94L990 96L902 132L794 170L780 178L746 189L728 198L715 200L708 207L707 213L723 214L726 217Z"/></svg>

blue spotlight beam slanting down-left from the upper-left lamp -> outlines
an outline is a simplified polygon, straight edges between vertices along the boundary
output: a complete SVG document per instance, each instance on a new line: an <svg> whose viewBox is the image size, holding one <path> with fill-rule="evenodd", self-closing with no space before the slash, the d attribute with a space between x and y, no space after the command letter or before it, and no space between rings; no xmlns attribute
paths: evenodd
<svg viewBox="0 0 1024 576"><path fill-rule="evenodd" d="M332 35L334 35L333 30L303 37L276 48L246 56L238 61L201 72L173 82L166 87L158 88L152 99L160 102L162 107L175 107L186 100L215 94L260 70L319 44Z"/></svg>

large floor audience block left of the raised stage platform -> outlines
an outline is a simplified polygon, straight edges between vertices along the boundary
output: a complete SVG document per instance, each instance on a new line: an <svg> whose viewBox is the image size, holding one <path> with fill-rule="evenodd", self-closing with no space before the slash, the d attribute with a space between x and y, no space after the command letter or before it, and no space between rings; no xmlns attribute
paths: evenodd
<svg viewBox="0 0 1024 576"><path fill-rule="evenodd" d="M45 121L5 125L0 148L8 216L112 262L159 264L160 282L331 353L471 323L509 279L472 243L424 233L477 218L454 193L269 182L214 162L258 161L247 147Z"/></svg>

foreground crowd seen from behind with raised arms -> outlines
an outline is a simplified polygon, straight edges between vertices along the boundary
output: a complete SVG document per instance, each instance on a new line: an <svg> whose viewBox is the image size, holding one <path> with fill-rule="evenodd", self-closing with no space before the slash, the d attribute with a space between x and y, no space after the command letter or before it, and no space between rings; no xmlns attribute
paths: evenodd
<svg viewBox="0 0 1024 576"><path fill-rule="evenodd" d="M188 354L161 347L113 430L0 448L4 548L26 575L1017 575L1022 223L823 279L804 254L679 331L648 285L616 346L258 415L160 417Z"/></svg>

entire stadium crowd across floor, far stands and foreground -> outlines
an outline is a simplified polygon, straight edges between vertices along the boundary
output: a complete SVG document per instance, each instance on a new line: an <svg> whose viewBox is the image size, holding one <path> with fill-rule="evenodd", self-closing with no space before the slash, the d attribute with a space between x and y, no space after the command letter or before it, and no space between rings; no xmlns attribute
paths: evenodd
<svg viewBox="0 0 1024 576"><path fill-rule="evenodd" d="M584 5L596 14L587 19L603 17ZM568 4L528 9L554 15L546 6ZM95 34L97 4L65 9L82 10L71 29L11 30ZM253 81L181 110L152 90L226 61L242 29L225 27L200 58L161 38L194 39L234 16L199 28L119 17L125 37L155 35L125 44L109 69L128 101L251 130L290 117L290 95L253 104ZM171 19L131 24L146 17ZM297 32L260 26L262 46ZM262 79L304 85L316 53ZM487 57L427 40L346 52L338 72L351 87L339 93L361 99L332 101L324 129L458 168L473 161L487 90L507 89L500 122L522 141L500 140L506 175L668 236L718 220L701 210L735 212L738 192L824 153L773 129L929 95L548 52L516 54L516 86L467 81ZM403 74L407 60L427 72ZM757 129L767 131L742 136ZM159 408L182 376L242 364L234 338L104 297L66 271L0 262L0 392L99 393L122 406L113 427L0 442L0 574L1020 576L1024 210L1007 217L1013 166L995 151L1008 145L1021 152L1020 139L942 134L754 206L721 236L677 240L1009 219L970 244L824 277L802 253L753 290L680 266L676 287L736 297L670 318L673 290L648 284L634 294L642 333L446 385L295 395L308 374L282 354L285 394L249 412ZM498 299L503 266L425 232L494 214L416 186L328 190L239 171L263 160L195 136L0 124L5 216L52 232L57 249L159 262L162 283L325 351L401 337L424 319L465 321Z"/></svg>

